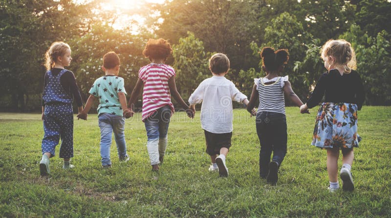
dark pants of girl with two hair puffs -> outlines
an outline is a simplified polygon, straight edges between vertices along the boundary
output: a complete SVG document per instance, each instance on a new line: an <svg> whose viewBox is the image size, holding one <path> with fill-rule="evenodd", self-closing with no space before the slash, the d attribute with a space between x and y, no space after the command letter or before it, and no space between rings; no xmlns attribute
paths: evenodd
<svg viewBox="0 0 391 218"><path fill-rule="evenodd" d="M269 173L270 155L280 166L286 154L286 117L282 113L263 111L257 113L257 134L260 139L260 176Z"/></svg>

